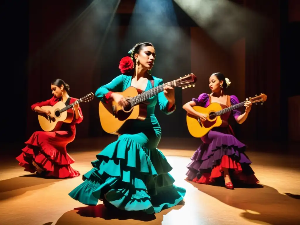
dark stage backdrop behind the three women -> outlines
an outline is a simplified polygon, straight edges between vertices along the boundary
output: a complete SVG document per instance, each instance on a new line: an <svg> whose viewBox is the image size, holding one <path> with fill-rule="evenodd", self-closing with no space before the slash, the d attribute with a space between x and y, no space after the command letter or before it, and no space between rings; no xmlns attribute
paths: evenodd
<svg viewBox="0 0 300 225"><path fill-rule="evenodd" d="M101 4L113 12L112 2ZM232 2L263 20L247 21L247 32L220 45L174 1L166 3L172 4L173 14L167 8L153 16L151 8L132 13L137 2L122 0L112 20L112 13L92 7L95 1L1 1L1 142L23 143L40 130L30 106L52 97L53 79L64 79L72 97L95 93L120 74L120 59L142 41L155 45L154 76L165 82L191 72L198 77L195 88L176 89L175 113L157 110L163 137L190 137L182 104L208 92L210 74L221 71L232 81L229 94L240 101L268 95L263 106L253 106L244 124L234 125L238 138L288 141L287 99L300 95L300 2ZM84 120L77 125L76 139L107 135L98 102L80 105Z"/></svg>

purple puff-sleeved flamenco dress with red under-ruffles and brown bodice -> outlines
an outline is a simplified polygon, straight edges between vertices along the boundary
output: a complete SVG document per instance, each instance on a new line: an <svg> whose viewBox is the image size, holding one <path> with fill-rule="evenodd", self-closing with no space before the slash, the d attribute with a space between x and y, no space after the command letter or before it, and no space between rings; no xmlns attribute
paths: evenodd
<svg viewBox="0 0 300 225"><path fill-rule="evenodd" d="M197 106L208 107L211 103L210 95L203 93L193 98ZM222 109L238 104L234 95L227 96L226 105L220 104ZM220 127L211 129L201 137L203 144L199 146L192 162L187 165L187 180L201 184L212 184L223 176L223 169L228 168L232 182L240 181L245 184L257 184L258 179L250 167L252 163L244 153L246 146L238 141L232 128L228 124L231 112L221 115L223 121ZM241 115L238 109L233 110L235 119Z"/></svg>

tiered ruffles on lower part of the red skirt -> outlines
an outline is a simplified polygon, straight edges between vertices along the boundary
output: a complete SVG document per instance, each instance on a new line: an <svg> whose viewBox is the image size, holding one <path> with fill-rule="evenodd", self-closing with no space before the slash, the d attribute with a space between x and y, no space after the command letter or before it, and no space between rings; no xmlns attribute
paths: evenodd
<svg viewBox="0 0 300 225"><path fill-rule="evenodd" d="M22 153L16 157L19 166L24 167L25 171L36 172L36 168L32 165L32 161L34 161L46 171L45 176L72 178L80 175L77 170L70 166L75 161L69 154L61 153L49 144L41 145L38 141L38 135L33 134L25 144L26 147L22 149Z"/></svg>

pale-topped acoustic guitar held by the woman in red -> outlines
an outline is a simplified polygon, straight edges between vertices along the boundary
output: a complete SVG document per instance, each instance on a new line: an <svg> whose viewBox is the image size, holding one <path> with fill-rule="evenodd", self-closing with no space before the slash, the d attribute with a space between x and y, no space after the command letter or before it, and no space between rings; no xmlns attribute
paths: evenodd
<svg viewBox="0 0 300 225"><path fill-rule="evenodd" d="M50 111L51 115L47 116L45 113L38 114L38 122L44 131L58 131L63 123L71 123L74 118L73 105L80 102L89 102L93 100L94 94L89 93L82 98L74 101L72 104L66 106L63 101L59 101L54 106L42 106L41 108Z"/></svg>

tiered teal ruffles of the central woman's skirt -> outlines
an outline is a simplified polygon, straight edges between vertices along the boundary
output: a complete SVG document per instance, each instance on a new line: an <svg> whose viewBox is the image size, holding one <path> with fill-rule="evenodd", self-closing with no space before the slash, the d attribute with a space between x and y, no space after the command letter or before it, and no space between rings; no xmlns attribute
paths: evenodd
<svg viewBox="0 0 300 225"><path fill-rule="evenodd" d="M173 184L172 167L158 149L120 136L96 157L84 182L69 193L83 204L96 205L105 196L119 209L152 214L184 198L185 189Z"/></svg>

